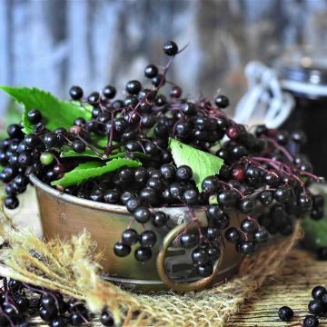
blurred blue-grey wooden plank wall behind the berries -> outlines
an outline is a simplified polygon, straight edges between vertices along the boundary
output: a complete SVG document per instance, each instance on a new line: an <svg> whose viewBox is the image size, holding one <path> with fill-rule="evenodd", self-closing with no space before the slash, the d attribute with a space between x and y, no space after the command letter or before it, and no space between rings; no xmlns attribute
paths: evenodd
<svg viewBox="0 0 327 327"><path fill-rule="evenodd" d="M68 98L165 64L162 45L179 54L169 79L184 94L222 90L236 104L244 64L272 63L283 49L326 44L325 0L0 0L0 84L35 86ZM0 95L0 111L8 98Z"/></svg>

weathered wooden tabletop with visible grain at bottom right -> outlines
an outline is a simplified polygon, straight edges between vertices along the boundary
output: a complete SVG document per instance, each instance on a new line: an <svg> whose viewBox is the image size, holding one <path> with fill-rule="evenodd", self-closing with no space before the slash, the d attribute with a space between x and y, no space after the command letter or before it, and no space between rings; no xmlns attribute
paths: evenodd
<svg viewBox="0 0 327 327"><path fill-rule="evenodd" d="M302 322L308 314L312 288L319 284L327 286L327 263L314 260L310 253L293 251L280 274L267 280L255 299L245 302L226 327L282 327ZM278 318L277 311L283 305L292 307L295 312L290 323ZM320 327L327 326L327 320L320 322Z"/></svg>

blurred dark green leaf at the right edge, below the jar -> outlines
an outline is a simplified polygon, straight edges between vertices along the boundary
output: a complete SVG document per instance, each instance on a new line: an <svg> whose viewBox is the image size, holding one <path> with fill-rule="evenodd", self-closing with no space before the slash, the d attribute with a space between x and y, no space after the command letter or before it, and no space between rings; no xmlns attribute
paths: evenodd
<svg viewBox="0 0 327 327"><path fill-rule="evenodd" d="M327 193L320 191L324 197L324 213L327 210ZM304 237L302 245L309 250L317 250L322 246L327 246L327 216L325 215L320 221L314 221L310 217L302 220L302 230Z"/></svg>

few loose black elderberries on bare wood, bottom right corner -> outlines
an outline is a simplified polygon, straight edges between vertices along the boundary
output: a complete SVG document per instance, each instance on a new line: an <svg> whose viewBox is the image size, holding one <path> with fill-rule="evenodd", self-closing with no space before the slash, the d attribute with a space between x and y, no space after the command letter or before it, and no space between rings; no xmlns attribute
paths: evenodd
<svg viewBox="0 0 327 327"><path fill-rule="evenodd" d="M303 320L303 327L318 327L317 317L326 317L327 315L327 291L323 286L315 286L312 289L312 300L308 304L310 313ZM294 312L288 306L279 309L278 315L282 322L291 322Z"/></svg>

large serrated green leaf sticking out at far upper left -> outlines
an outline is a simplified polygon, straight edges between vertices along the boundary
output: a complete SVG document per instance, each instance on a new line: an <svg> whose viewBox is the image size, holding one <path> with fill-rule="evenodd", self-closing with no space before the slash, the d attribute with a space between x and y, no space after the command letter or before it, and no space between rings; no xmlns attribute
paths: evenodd
<svg viewBox="0 0 327 327"><path fill-rule="evenodd" d="M27 119L28 111L33 108L41 112L45 126L50 131L58 127L69 129L76 117L83 117L86 120L91 118L89 105L59 101L53 94L37 88L0 86L0 89L15 98L19 104L23 104L22 124L25 134L33 132L32 124Z"/></svg>

